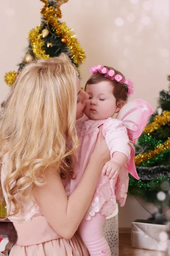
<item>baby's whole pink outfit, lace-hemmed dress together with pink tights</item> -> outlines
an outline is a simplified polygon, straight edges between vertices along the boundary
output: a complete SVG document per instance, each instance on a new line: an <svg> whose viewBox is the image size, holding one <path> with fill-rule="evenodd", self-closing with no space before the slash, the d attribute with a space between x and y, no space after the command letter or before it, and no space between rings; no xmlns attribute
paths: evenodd
<svg viewBox="0 0 170 256"><path fill-rule="evenodd" d="M125 154L127 160L130 159L129 138L124 122L112 118L91 120L87 116L83 116L77 120L77 134L80 146L77 151L78 161L74 166L76 178L71 180L70 184L65 188L68 196L74 192L85 172L94 150L100 125L103 125L102 133L111 152L111 157L113 157L114 152L118 151ZM115 180L109 180L106 175L99 175L94 197L79 225L80 235L91 256L111 256L109 245L102 236L102 227L105 223L105 218L110 216L116 209L116 198L121 206L125 204L128 181L128 172L125 167L119 171L119 175Z"/></svg>

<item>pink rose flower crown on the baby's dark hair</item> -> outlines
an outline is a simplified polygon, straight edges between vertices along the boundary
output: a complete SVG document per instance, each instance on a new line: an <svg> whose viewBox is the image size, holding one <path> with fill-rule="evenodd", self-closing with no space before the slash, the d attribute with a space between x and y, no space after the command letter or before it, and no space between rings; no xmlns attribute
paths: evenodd
<svg viewBox="0 0 170 256"><path fill-rule="evenodd" d="M111 80L116 80L117 82L124 84L125 88L127 89L127 93L133 94L134 92L134 87L133 87L133 82L130 81L129 79L125 79L125 76L122 76L122 74L116 74L113 70L113 68L111 68L110 70L108 70L107 67L102 67L101 65L98 66L94 66L90 68L90 73L94 74L94 73L101 73L104 74L105 77L108 77Z"/></svg>

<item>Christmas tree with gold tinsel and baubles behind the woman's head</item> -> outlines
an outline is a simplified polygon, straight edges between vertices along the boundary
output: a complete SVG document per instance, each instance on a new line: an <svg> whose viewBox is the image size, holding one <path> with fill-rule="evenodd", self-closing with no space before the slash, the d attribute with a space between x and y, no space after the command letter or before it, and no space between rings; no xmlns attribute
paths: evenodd
<svg viewBox="0 0 170 256"><path fill-rule="evenodd" d="M48 59L65 52L78 68L85 60L85 52L77 41L76 35L62 17L60 6L68 0L40 0L44 3L41 9L42 22L28 33L29 45L18 71L6 73L6 84L12 86L23 67L35 58Z"/></svg>

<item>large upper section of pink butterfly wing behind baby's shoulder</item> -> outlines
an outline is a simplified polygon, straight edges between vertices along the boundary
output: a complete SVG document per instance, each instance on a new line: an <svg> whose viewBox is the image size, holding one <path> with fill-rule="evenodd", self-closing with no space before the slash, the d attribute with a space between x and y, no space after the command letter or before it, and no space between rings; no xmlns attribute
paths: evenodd
<svg viewBox="0 0 170 256"><path fill-rule="evenodd" d="M116 119L122 120L127 128L131 143L135 144L136 138L142 134L147 125L148 117L153 114L153 108L142 99L135 99L127 103L118 113Z"/></svg>

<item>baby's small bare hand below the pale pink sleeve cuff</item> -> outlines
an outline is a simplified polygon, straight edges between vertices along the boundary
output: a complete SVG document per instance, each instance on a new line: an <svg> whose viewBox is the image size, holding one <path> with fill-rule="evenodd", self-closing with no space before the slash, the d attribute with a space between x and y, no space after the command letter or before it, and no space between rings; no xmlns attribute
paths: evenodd
<svg viewBox="0 0 170 256"><path fill-rule="evenodd" d="M116 163L113 160L108 161L105 163L102 169L102 175L108 176L109 180L114 180L119 175L120 166L119 163Z"/></svg>

